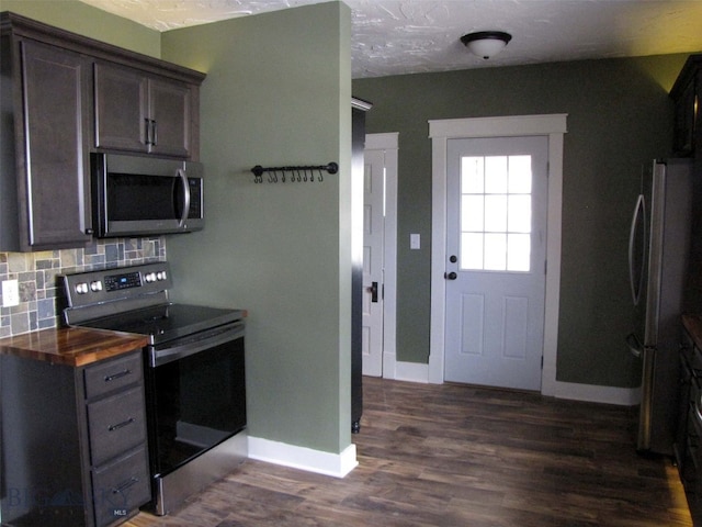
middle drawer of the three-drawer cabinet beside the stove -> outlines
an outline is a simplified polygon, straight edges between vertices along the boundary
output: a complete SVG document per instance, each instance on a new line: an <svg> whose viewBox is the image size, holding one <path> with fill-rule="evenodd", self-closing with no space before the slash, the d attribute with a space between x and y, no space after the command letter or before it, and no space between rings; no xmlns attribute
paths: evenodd
<svg viewBox="0 0 702 527"><path fill-rule="evenodd" d="M140 385L88 405L92 464L104 463L146 441L144 392Z"/></svg>

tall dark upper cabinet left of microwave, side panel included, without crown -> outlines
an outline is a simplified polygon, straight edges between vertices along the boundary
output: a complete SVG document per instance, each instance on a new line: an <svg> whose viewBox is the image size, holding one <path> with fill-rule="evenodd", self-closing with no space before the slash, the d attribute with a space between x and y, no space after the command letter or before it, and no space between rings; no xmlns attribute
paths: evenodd
<svg viewBox="0 0 702 527"><path fill-rule="evenodd" d="M3 146L0 161L0 249L84 245L92 239L91 64L29 38L3 37L2 55L2 138L14 142Z"/></svg>

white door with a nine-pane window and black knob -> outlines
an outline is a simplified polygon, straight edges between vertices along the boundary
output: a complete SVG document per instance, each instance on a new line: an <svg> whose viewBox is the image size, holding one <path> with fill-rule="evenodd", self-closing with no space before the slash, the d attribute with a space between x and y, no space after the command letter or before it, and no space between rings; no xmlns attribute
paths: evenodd
<svg viewBox="0 0 702 527"><path fill-rule="evenodd" d="M541 389L548 138L449 139L446 381Z"/></svg>

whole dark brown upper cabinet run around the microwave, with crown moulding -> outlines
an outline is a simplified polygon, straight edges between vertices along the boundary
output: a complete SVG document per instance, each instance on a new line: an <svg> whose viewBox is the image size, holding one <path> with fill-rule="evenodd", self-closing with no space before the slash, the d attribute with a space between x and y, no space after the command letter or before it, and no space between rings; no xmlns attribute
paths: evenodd
<svg viewBox="0 0 702 527"><path fill-rule="evenodd" d="M0 13L0 251L92 240L90 153L199 160L205 75Z"/></svg>

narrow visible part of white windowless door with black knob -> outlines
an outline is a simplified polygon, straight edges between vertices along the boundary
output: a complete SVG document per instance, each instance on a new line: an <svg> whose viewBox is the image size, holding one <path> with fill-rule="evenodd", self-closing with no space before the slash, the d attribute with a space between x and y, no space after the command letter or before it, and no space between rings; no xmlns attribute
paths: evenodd
<svg viewBox="0 0 702 527"><path fill-rule="evenodd" d="M364 152L363 374L383 375L385 156Z"/></svg>

